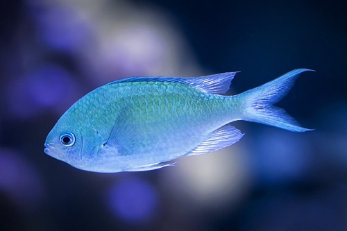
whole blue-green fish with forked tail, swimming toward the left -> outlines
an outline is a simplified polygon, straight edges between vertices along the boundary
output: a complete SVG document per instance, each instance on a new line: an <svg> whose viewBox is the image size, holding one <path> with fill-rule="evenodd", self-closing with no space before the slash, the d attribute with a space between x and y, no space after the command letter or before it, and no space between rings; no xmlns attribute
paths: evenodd
<svg viewBox="0 0 347 231"><path fill-rule="evenodd" d="M246 92L226 95L237 72L210 76L131 77L105 84L76 101L49 132L44 153L99 173L149 171L173 160L235 144L233 121L306 132L274 104L294 85L294 69Z"/></svg>

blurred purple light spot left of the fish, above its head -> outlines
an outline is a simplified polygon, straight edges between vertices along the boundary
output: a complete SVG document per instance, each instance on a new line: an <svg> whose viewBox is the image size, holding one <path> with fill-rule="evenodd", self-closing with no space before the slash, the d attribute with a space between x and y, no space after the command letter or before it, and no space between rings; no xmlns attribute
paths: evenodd
<svg viewBox="0 0 347 231"><path fill-rule="evenodd" d="M24 118L45 108L66 110L74 101L75 88L67 70L56 65L42 65L10 84L6 92L8 108L11 114Z"/></svg>

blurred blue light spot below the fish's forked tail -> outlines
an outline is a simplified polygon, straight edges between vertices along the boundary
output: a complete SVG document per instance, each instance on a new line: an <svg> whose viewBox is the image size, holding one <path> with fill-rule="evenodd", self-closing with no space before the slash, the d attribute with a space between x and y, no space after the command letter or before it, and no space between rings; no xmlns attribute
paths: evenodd
<svg viewBox="0 0 347 231"><path fill-rule="evenodd" d="M308 144L300 134L278 132L271 129L258 135L251 153L257 173L255 176L265 184L282 184L299 180L309 168Z"/></svg>

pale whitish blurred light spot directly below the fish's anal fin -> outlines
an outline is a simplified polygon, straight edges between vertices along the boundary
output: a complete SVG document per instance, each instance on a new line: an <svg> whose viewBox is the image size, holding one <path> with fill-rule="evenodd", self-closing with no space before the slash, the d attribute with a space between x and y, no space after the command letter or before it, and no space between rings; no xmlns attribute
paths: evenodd
<svg viewBox="0 0 347 231"><path fill-rule="evenodd" d="M218 211L242 203L251 185L245 155L235 146L205 155L182 157L163 169L162 185L191 209Z"/></svg>

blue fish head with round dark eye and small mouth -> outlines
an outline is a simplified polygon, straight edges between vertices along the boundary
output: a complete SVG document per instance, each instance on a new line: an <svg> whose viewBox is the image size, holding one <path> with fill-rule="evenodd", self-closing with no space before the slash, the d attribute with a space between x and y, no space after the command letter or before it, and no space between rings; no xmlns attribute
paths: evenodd
<svg viewBox="0 0 347 231"><path fill-rule="evenodd" d="M87 170L99 152L100 137L92 124L64 114L44 143L44 153L77 169Z"/></svg>

